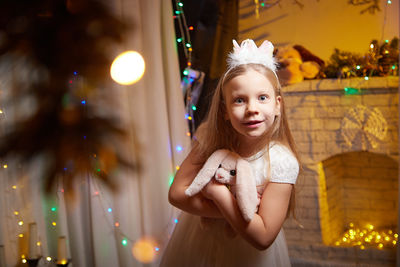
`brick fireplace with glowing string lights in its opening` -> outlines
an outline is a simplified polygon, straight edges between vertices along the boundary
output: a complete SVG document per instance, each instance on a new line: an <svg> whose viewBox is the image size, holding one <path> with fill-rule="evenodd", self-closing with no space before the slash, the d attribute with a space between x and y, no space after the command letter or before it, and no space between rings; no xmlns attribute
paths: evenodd
<svg viewBox="0 0 400 267"><path fill-rule="evenodd" d="M394 266L398 77L283 88L303 163L284 227L294 266Z"/></svg>

